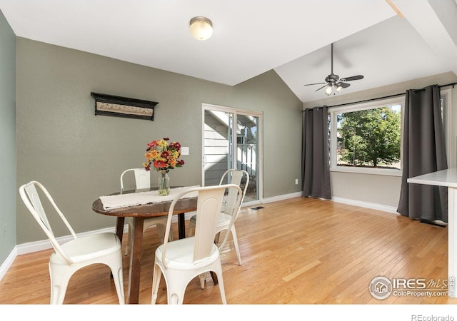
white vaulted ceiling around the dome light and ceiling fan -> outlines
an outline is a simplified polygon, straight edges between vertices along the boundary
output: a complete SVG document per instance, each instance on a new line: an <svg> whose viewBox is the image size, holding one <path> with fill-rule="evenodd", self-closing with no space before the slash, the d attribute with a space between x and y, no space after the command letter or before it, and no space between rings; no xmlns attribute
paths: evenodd
<svg viewBox="0 0 457 321"><path fill-rule="evenodd" d="M404 18L388 4L392 2ZM275 70L303 102L453 71L457 0L0 0L16 36L234 86ZM214 34L198 41L189 20Z"/></svg>

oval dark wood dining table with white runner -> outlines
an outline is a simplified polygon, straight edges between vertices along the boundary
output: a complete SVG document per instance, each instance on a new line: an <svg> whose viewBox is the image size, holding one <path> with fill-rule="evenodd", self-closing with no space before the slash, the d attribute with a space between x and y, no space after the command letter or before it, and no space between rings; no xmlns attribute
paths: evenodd
<svg viewBox="0 0 457 321"><path fill-rule="evenodd" d="M157 188L126 190L100 196L92 203L95 213L116 217L116 235L122 242L125 218L133 219L134 237L131 244L129 264L129 286L127 304L139 303L141 275L141 248L143 245L143 225L145 218L168 215L171 202L182 191L196 186L170 188L169 195L159 195ZM178 215L179 238L186 237L185 213L196 211L197 194L189 193L175 205L174 215ZM151 276L152 280L152 276ZM151 281L152 282L152 281Z"/></svg>

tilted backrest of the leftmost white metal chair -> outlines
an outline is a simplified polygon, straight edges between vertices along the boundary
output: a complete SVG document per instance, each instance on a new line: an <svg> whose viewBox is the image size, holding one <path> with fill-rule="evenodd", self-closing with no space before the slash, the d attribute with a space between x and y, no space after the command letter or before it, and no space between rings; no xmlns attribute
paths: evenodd
<svg viewBox="0 0 457 321"><path fill-rule="evenodd" d="M37 187L39 188L39 190L41 190L42 194L46 195L46 198L49 200L49 203L54 207L56 213L59 214L59 217L66 225L66 228L68 228L73 238L77 238L76 233L74 233L73 228L71 228L71 225L66 220L64 214L61 212L61 210L59 210L53 198L49 194L48 190L46 190L46 188L44 188L44 186L41 183L32 180L31 182L22 185L19 188L19 195L21 195L22 201L29 209L31 215L35 218L38 225L41 227L44 233L46 233L46 236L51 241L51 245L56 251L56 253L59 253L66 260L66 262L71 264L73 263L73 261L71 260L71 258L69 258L68 255L66 255L64 250L61 248L59 242L57 242L56 237L54 236L51 224L49 223L46 212L44 211L43 204L41 203L41 198L37 190Z"/></svg>

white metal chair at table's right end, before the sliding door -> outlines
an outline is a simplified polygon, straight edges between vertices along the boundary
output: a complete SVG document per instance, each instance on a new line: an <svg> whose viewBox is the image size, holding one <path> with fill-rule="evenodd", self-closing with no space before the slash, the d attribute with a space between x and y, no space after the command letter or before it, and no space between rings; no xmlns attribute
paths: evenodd
<svg viewBox="0 0 457 321"><path fill-rule="evenodd" d="M229 169L226 170L224 175L222 175L221 181L219 185L224 183L224 180L229 180L228 183L235 184L241 186L241 181L243 177L246 180L246 183L243 187L243 195L241 198L241 203L238 207L236 207L236 191L230 190L229 194L227 195L226 200L224 200L223 208L221 209L221 213L219 213L218 223L216 227L216 243L219 241L219 235L224 230L230 230L232 238L233 238L233 245L235 246L236 251L236 258L238 258L238 265L241 265L241 255L240 250L238 248L238 238L236 237L236 229L235 229L235 221L238 218L238 214L241 209L241 204L244 200L244 195L246 195L246 190L249 184L249 174L246 170L236 170L236 169ZM231 224L231 221L233 223ZM195 231L195 224L196 224L196 216L192 216L189 220L189 236L194 235ZM229 227L231 227L229 229ZM225 244L221 244L220 249L224 247ZM202 287L203 288L203 287Z"/></svg>

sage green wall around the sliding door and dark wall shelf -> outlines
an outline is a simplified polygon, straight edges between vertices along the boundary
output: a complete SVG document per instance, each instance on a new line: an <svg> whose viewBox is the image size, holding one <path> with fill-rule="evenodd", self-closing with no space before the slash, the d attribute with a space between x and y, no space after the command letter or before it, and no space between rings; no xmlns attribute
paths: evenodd
<svg viewBox="0 0 457 321"><path fill-rule="evenodd" d="M16 50L16 190L39 180L76 233L114 226L91 204L119 190L124 169L141 167L153 139L189 146L170 178L201 184L202 103L263 111L263 197L301 190L302 103L274 71L232 87L29 39ZM95 116L91 91L158 101L154 121ZM45 238L19 196L17 222L17 244Z"/></svg>

